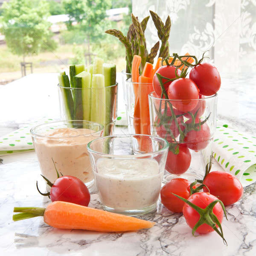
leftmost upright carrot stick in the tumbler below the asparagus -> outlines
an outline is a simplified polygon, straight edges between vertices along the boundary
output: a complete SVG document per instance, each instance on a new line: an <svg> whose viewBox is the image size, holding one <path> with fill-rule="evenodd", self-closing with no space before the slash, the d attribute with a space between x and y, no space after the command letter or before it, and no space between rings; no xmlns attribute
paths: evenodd
<svg viewBox="0 0 256 256"><path fill-rule="evenodd" d="M135 134L140 134L140 102L138 96L138 81L140 76L140 63L141 57L139 55L134 55L132 65L131 65L131 81L134 87L135 105L134 105L134 129Z"/></svg>

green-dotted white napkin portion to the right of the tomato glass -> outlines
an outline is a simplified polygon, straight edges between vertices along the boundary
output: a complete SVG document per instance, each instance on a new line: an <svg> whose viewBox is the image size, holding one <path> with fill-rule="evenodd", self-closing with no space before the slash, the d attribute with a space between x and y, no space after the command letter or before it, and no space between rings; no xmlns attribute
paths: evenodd
<svg viewBox="0 0 256 256"><path fill-rule="evenodd" d="M230 128L217 127L212 151L226 172L239 178L243 186L256 181L256 137Z"/></svg>

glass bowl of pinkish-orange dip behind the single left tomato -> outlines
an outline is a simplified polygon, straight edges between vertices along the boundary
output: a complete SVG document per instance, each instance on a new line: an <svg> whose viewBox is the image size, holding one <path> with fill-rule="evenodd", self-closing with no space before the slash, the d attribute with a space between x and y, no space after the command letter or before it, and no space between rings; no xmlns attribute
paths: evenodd
<svg viewBox="0 0 256 256"><path fill-rule="evenodd" d="M52 183L59 173L81 179L93 189L87 143L103 135L103 125L83 120L48 122L30 130L41 173ZM55 163L55 166L52 162Z"/></svg>

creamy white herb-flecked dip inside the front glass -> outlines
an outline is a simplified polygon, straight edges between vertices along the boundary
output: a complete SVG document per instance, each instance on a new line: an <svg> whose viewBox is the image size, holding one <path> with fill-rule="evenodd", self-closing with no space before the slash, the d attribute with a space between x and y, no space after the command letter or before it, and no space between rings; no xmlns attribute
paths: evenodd
<svg viewBox="0 0 256 256"><path fill-rule="evenodd" d="M142 209L158 199L163 175L154 159L100 158L96 171L99 199L107 207Z"/></svg>

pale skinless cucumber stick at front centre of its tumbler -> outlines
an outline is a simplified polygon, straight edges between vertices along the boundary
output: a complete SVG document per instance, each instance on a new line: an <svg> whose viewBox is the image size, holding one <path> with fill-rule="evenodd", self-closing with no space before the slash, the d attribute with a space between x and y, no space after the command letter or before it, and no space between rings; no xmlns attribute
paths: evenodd
<svg viewBox="0 0 256 256"><path fill-rule="evenodd" d="M105 81L102 74L92 76L91 121L105 125L106 120L106 94Z"/></svg>

